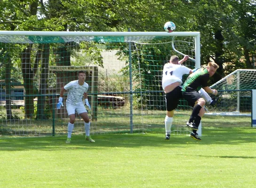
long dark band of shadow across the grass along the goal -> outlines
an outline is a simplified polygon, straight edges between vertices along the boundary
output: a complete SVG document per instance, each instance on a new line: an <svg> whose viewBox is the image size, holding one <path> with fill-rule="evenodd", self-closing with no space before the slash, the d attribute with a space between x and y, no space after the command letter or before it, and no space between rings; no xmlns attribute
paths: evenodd
<svg viewBox="0 0 256 188"><path fill-rule="evenodd" d="M161 132L161 133L160 133ZM202 141L195 141L189 135L171 135L169 141L164 140L164 129L151 133L133 134L102 134L92 135L95 143L85 141L83 135L73 135L72 143L66 144L65 136L32 137L32 138L1 138L0 151L17 150L60 150L60 149L107 149L112 147L139 148L139 147L192 147L198 144L225 144L239 145L254 143L255 128L204 128ZM209 156L210 157L210 156Z"/></svg>

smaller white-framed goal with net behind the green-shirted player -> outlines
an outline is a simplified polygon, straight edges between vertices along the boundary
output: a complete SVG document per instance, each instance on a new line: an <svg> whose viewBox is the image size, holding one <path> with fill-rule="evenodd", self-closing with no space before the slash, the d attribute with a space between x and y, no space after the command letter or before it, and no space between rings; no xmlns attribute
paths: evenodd
<svg viewBox="0 0 256 188"><path fill-rule="evenodd" d="M251 116L255 80L256 70L238 69L210 86L218 90L221 101L216 107L208 107L206 115Z"/></svg>

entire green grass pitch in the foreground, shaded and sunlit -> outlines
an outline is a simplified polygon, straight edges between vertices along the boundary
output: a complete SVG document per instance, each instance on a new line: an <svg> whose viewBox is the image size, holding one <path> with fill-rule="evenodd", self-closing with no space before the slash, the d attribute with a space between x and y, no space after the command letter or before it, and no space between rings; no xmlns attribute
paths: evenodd
<svg viewBox="0 0 256 188"><path fill-rule="evenodd" d="M211 121L211 119L205 121ZM0 139L0 188L253 188L256 129Z"/></svg>

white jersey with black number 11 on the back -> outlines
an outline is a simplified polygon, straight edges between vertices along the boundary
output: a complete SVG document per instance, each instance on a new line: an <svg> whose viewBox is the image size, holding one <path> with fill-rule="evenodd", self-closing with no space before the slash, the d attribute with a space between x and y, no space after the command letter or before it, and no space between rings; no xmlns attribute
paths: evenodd
<svg viewBox="0 0 256 188"><path fill-rule="evenodd" d="M181 64L166 63L163 69L162 87L163 89L175 82L182 84L182 76L189 74L190 68Z"/></svg>

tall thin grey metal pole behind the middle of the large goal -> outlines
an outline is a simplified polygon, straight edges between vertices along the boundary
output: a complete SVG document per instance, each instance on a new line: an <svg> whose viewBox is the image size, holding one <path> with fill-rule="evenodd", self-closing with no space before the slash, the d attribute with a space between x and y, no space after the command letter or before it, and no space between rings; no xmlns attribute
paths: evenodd
<svg viewBox="0 0 256 188"><path fill-rule="evenodd" d="M131 28L128 28L131 31ZM130 92L132 92L132 47L129 42L129 79L130 79ZM130 94L130 133L133 133L133 94Z"/></svg>

